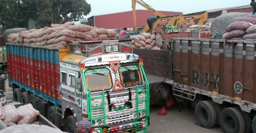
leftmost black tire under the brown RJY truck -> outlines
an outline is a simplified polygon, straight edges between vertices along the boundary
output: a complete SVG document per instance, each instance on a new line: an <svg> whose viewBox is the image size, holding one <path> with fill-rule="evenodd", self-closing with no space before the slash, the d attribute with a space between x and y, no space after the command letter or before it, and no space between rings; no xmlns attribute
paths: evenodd
<svg viewBox="0 0 256 133"><path fill-rule="evenodd" d="M209 101L197 103L195 109L196 120L201 127L212 128L216 124L217 115L213 105Z"/></svg>

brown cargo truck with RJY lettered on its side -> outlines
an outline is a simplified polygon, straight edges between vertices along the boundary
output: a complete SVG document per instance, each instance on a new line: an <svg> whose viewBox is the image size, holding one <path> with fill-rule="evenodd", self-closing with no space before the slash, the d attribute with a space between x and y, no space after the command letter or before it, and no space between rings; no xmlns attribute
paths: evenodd
<svg viewBox="0 0 256 133"><path fill-rule="evenodd" d="M172 88L177 101L196 103L201 127L255 133L256 42L172 37L170 44L169 52L134 48L147 74L172 79L159 84Z"/></svg>

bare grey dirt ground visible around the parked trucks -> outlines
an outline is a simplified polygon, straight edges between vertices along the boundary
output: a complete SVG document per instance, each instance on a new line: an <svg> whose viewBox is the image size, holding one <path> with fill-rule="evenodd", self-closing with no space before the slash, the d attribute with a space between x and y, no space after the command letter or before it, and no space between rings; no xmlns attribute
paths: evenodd
<svg viewBox="0 0 256 133"><path fill-rule="evenodd" d="M13 91L9 88L8 79L5 81L6 100L13 100ZM194 110L184 108L179 112L176 106L168 110L167 115L158 116L160 106L150 107L149 133L217 133L221 128L205 129L196 124Z"/></svg>

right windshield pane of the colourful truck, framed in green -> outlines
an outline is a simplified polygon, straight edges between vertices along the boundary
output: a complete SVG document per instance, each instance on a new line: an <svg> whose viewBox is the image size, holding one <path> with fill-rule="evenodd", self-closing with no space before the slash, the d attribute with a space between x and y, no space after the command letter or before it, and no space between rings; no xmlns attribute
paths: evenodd
<svg viewBox="0 0 256 133"><path fill-rule="evenodd" d="M124 87L140 85L141 76L137 65L121 65L119 67L120 80Z"/></svg>

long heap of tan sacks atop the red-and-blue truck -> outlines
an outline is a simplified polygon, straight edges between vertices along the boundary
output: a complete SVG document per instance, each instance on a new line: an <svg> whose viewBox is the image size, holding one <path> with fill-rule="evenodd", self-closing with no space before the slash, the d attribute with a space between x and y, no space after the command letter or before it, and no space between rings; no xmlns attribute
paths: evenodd
<svg viewBox="0 0 256 133"><path fill-rule="evenodd" d="M73 22L65 24L52 24L51 27L31 29L10 34L10 43L25 44L31 46L44 46L51 48L66 48L69 41L93 41L113 39L116 32L104 28L87 25L74 25Z"/></svg>

